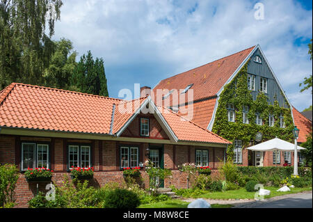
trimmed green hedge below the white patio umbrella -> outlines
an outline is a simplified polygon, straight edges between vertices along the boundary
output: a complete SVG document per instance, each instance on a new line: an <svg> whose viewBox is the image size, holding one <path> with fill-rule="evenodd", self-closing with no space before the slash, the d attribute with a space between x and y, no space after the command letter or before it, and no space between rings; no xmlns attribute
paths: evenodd
<svg viewBox="0 0 313 222"><path fill-rule="evenodd" d="M238 171L243 175L252 177L258 173L265 174L268 177L271 175L278 175L284 179L290 177L294 173L293 166L238 166ZM312 168L298 167L298 174L300 177L312 177Z"/></svg>

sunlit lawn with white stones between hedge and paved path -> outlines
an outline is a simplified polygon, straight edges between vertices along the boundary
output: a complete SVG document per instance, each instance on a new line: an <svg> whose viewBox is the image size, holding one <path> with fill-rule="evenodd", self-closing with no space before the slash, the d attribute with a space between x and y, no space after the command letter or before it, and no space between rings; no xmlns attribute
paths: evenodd
<svg viewBox="0 0 313 222"><path fill-rule="evenodd" d="M271 191L271 195L264 196L264 198L273 198L274 196L282 196L290 193L299 193L302 191L312 191L312 187L304 187L304 188L291 188L291 191L288 192L278 192L279 187L264 187L264 189L268 189ZM225 192L208 192L205 194L201 194L196 198L209 198L209 199L254 199L255 193L248 192L246 189L241 188L233 191L225 191Z"/></svg>

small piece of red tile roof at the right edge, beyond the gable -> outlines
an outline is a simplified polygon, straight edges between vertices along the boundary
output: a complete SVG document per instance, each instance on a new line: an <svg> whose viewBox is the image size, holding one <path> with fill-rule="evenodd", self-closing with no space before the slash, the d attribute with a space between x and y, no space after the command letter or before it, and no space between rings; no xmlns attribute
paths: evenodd
<svg viewBox="0 0 313 222"><path fill-rule="evenodd" d="M300 129L298 142L304 143L307 141L307 134L312 132L312 121L303 116L296 108L292 109L292 114L294 115L294 125Z"/></svg>

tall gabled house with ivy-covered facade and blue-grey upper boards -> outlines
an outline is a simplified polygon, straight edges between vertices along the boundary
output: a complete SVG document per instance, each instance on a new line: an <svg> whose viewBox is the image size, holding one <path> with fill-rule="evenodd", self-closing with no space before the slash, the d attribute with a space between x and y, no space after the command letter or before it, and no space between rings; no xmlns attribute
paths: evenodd
<svg viewBox="0 0 313 222"><path fill-rule="evenodd" d="M239 74L242 74L243 69L246 69L243 74L247 76L246 88L249 90L252 100L255 102L257 97L263 93L266 95L268 105L273 106L277 102L281 109L286 110L285 114L291 116L292 121L289 125L284 123L284 120L286 120L284 114L277 117L267 115L262 119L260 118L262 113L254 113L252 107L248 105L239 107L230 102L227 106L223 104L223 107L221 107L220 97L225 92L225 88L229 87L230 84L233 84L233 87L236 88L236 78L239 77ZM183 102L174 100L175 91L182 95L179 90L184 92L191 89L193 90L192 98L186 96ZM163 91L165 94L161 99L157 97L157 95L159 96L157 94L158 90ZM154 100L163 101L163 106L169 107L178 113L182 110L181 115L183 115L183 110L188 110L191 106L193 109L192 121L210 131L214 130L214 127L216 129L221 128L219 125L221 121L218 121L219 119L216 117L216 113L220 109L225 113L225 118L228 115L228 125L232 125L234 131L245 128L251 130L258 128L261 134L268 134L269 131L272 131L272 134L267 135L268 138L275 138L275 136L280 138L285 136L286 133L291 134L293 125L296 125L300 129L298 143L305 142L307 134L312 132L312 121L305 118L291 105L259 45L163 79L153 88L152 92L154 93ZM230 98L230 101L232 99ZM309 105L307 104L307 106ZM286 127L291 128L289 132L285 129ZM243 166L282 166L284 161L288 161L291 165L294 164L293 152L278 152L273 155L273 152L246 150L245 148L256 143L256 132L250 135L250 138L247 138L247 134L227 136L228 132L225 135L219 132L216 133L232 141L234 145L234 162L236 164ZM244 144L244 141L246 144ZM262 141L264 141L264 138L262 138ZM289 141L292 141L290 137ZM298 157L300 158L299 161L302 161L300 153Z"/></svg>

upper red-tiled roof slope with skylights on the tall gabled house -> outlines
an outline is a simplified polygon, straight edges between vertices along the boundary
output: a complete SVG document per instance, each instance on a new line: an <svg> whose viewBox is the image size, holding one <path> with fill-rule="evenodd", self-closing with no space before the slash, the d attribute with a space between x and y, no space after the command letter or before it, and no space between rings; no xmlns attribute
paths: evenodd
<svg viewBox="0 0 313 222"><path fill-rule="evenodd" d="M250 47L198 68L182 72L168 79L163 79L154 87L154 96L156 98L158 89L179 90L193 84L191 87L191 89L193 89L193 101L200 100L204 97L212 97L216 95L218 90L230 79L235 70L254 48L255 46ZM170 100L170 106L177 105L175 102L172 102L171 96L166 100ZM185 100L187 101L187 99ZM182 102L179 102L179 104L182 104Z"/></svg>

